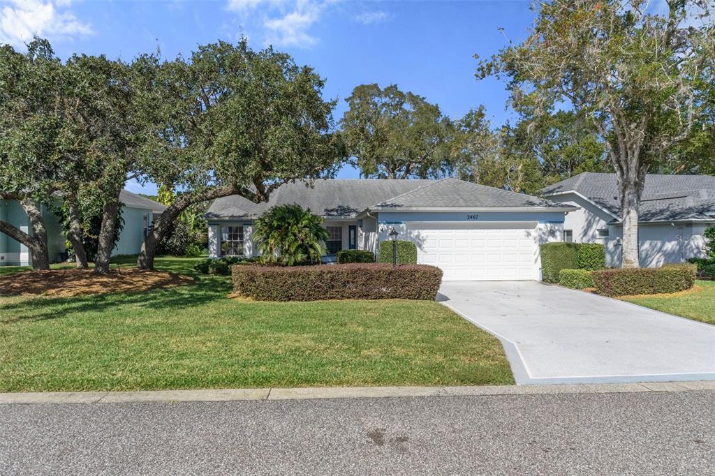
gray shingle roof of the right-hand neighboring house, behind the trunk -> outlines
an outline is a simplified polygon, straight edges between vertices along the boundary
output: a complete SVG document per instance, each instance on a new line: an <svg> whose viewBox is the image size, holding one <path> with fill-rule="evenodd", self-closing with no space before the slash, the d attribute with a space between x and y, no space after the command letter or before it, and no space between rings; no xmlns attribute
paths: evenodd
<svg viewBox="0 0 715 476"><path fill-rule="evenodd" d="M616 174L584 172L545 187L550 194L578 192L621 217ZM641 222L709 220L715 218L715 177L709 175L646 175L641 198Z"/></svg>

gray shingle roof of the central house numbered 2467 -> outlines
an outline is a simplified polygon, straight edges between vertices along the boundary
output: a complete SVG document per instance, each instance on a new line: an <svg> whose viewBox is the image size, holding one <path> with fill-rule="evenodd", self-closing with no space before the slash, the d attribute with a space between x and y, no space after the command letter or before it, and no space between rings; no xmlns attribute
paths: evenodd
<svg viewBox="0 0 715 476"><path fill-rule="evenodd" d="M563 204L463 182L442 180L321 179L278 187L268 202L256 204L232 195L215 200L205 216L253 218L280 204L297 203L323 217L355 217L365 209L556 207Z"/></svg>

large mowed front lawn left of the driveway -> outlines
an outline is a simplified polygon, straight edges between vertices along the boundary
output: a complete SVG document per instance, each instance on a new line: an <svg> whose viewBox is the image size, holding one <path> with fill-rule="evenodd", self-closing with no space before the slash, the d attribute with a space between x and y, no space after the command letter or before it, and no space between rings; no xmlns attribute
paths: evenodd
<svg viewBox="0 0 715 476"><path fill-rule="evenodd" d="M513 383L498 339L436 302L241 302L195 261L157 259L182 287L0 297L0 391Z"/></svg>

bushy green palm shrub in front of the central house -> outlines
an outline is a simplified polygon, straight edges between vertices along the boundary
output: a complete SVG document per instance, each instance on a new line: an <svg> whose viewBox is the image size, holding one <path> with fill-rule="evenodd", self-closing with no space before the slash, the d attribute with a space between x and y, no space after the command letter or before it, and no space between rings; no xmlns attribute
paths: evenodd
<svg viewBox="0 0 715 476"><path fill-rule="evenodd" d="M277 205L253 222L253 238L264 263L320 263L330 237L322 218L299 204Z"/></svg>

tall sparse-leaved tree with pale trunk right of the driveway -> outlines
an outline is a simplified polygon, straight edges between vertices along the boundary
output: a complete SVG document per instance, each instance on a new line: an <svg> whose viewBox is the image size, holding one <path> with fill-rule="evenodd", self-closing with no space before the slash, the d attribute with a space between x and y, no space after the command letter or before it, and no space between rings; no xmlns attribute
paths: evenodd
<svg viewBox="0 0 715 476"><path fill-rule="evenodd" d="M538 5L526 41L481 61L477 76L511 78L513 104L546 114L569 104L591 120L616 170L623 267L638 267L646 172L688 137L715 59L710 0L554 0ZM711 76L710 76L711 77Z"/></svg>

